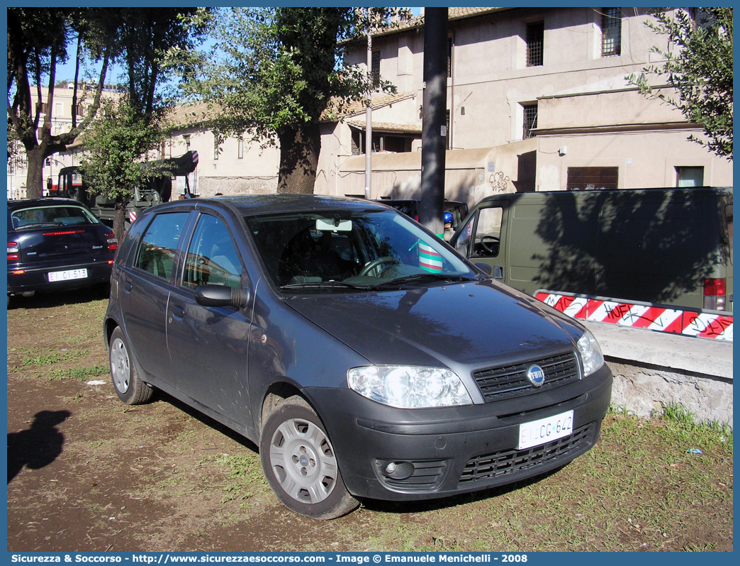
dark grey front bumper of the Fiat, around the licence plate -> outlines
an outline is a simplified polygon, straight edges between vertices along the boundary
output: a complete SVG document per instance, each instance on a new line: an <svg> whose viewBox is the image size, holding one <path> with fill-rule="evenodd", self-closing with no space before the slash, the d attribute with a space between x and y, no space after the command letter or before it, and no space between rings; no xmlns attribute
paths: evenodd
<svg viewBox="0 0 740 566"><path fill-rule="evenodd" d="M608 366L579 382L502 402L406 410L349 389L306 388L326 426L342 479L357 497L417 500L536 476L571 462L599 438L611 398ZM517 450L519 424L573 410L573 433ZM413 470L396 479L388 462Z"/></svg>

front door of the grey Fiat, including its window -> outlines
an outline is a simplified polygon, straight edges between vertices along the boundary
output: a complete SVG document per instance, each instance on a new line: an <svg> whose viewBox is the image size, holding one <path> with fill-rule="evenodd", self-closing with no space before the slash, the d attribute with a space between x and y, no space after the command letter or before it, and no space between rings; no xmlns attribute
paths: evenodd
<svg viewBox="0 0 740 566"><path fill-rule="evenodd" d="M223 216L198 215L169 298L167 344L178 390L239 427L252 428L247 381L251 310L195 301L201 284L246 288L249 279L238 250Z"/></svg>

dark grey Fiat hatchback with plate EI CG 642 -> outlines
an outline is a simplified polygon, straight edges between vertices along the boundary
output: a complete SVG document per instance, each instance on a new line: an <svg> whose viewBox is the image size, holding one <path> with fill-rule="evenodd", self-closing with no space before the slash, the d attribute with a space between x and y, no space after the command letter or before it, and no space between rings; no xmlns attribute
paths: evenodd
<svg viewBox="0 0 740 566"><path fill-rule="evenodd" d="M104 336L123 402L157 387L238 431L278 499L319 519L565 465L598 439L612 383L577 322L355 199L147 210Z"/></svg>

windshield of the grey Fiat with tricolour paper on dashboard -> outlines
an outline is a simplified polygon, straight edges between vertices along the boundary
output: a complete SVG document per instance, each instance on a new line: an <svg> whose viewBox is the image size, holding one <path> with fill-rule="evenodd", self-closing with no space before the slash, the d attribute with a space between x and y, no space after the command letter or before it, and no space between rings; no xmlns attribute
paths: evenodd
<svg viewBox="0 0 740 566"><path fill-rule="evenodd" d="M394 210L284 213L245 221L272 282L286 292L477 277L439 239Z"/></svg>

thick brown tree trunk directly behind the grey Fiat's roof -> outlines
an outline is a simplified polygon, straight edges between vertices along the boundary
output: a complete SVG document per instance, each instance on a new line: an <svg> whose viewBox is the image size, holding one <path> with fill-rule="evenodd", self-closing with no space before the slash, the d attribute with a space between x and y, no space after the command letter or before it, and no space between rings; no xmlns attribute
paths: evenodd
<svg viewBox="0 0 740 566"><path fill-rule="evenodd" d="M280 141L277 192L313 194L321 150L319 124L280 129L277 139Z"/></svg>

